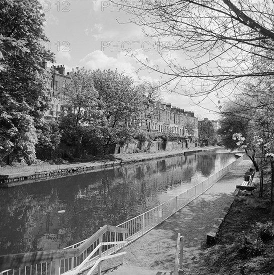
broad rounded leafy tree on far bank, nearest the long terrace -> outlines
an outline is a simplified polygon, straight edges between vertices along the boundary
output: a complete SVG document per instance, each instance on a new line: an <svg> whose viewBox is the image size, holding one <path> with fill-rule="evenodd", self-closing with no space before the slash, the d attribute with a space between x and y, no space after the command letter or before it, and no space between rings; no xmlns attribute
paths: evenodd
<svg viewBox="0 0 274 275"><path fill-rule="evenodd" d="M143 119L143 94L132 78L117 70L96 70L92 73L97 90L100 120L94 123L96 143L105 149L114 143L125 143L137 135Z"/></svg>

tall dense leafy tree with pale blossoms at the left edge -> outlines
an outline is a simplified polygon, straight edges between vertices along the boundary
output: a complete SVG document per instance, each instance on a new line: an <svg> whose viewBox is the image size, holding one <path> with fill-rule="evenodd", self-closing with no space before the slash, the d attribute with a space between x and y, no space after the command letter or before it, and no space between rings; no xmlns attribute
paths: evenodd
<svg viewBox="0 0 274 275"><path fill-rule="evenodd" d="M8 162L35 160L35 126L49 105L50 76L41 63L54 58L43 46L44 15L38 0L0 3L0 158Z"/></svg>

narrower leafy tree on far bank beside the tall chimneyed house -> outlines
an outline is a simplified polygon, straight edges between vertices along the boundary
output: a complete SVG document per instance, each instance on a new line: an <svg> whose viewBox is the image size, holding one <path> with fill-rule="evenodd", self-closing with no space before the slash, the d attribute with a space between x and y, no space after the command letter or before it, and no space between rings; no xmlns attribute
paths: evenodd
<svg viewBox="0 0 274 275"><path fill-rule="evenodd" d="M62 142L68 145L83 144L85 135L98 118L98 92L94 88L92 71L85 68L72 70L71 83L66 87L69 97L66 111L61 114Z"/></svg>

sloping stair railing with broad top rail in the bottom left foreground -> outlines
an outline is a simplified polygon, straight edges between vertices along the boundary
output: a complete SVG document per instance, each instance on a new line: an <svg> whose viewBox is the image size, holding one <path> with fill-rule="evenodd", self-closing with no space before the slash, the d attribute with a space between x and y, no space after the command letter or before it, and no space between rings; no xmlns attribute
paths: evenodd
<svg viewBox="0 0 274 275"><path fill-rule="evenodd" d="M13 268L2 271L0 274L76 275L95 263L99 263L100 270L102 259L124 247L126 232L125 228L104 225L88 239L64 249L0 256L1 268ZM99 260L101 257L102 259Z"/></svg>

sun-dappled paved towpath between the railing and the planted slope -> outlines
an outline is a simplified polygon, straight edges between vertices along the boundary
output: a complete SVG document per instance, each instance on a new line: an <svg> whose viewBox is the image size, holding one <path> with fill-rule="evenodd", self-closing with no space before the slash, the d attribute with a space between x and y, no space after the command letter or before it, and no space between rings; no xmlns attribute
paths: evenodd
<svg viewBox="0 0 274 275"><path fill-rule="evenodd" d="M204 194L190 202L180 211L156 226L150 232L125 247L124 264L108 271L108 275L158 274L174 268L177 233L184 236L183 266L188 274L199 266L200 255L206 253L206 235L214 219L231 198L237 184L243 181L244 173L251 167L249 158L244 158L234 169L216 182ZM102 270L120 264L119 258L106 260ZM136 270L134 271L134 266ZM141 269L140 269L141 268ZM142 270L141 272L140 270ZM148 272L147 270L151 270Z"/></svg>

